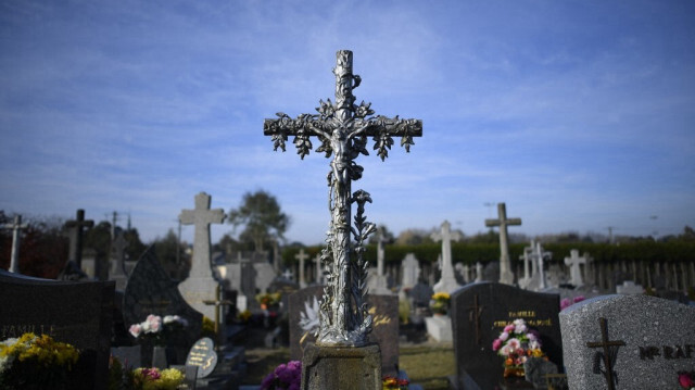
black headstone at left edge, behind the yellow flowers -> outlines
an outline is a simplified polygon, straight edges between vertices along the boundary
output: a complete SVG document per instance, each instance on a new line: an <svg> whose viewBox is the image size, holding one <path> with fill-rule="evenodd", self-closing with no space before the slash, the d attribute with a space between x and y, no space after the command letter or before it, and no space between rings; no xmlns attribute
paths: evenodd
<svg viewBox="0 0 695 390"><path fill-rule="evenodd" d="M106 389L115 286L65 282L0 269L0 340L49 335L80 350L78 389Z"/></svg>

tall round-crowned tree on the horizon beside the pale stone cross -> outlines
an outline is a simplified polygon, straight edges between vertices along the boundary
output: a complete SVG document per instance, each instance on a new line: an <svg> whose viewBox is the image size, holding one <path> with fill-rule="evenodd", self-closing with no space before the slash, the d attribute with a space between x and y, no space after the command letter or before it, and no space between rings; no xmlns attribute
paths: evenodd
<svg viewBox="0 0 695 390"><path fill-rule="evenodd" d="M290 225L290 217L282 213L278 201L264 190L244 193L239 207L229 211L228 221L235 230L244 226L239 240L252 242L256 251L262 251L265 243L285 239Z"/></svg>

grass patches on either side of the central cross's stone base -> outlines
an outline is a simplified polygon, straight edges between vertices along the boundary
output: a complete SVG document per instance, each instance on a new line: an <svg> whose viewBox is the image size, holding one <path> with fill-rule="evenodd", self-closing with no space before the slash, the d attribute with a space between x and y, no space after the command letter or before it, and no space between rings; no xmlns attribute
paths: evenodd
<svg viewBox="0 0 695 390"><path fill-rule="evenodd" d="M399 363L410 382L421 385L426 390L447 390L446 377L456 373L454 350L451 345L401 345ZM247 350L249 364L243 385L258 385L275 367L290 360L290 350L253 349Z"/></svg>

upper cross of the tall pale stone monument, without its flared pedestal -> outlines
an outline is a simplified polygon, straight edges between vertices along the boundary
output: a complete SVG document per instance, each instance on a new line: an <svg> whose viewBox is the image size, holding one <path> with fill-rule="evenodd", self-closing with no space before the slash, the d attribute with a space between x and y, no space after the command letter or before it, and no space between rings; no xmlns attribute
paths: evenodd
<svg viewBox="0 0 695 390"><path fill-rule="evenodd" d="M222 224L225 221L225 211L210 209L212 197L205 192L195 196L195 209L182 210L178 216L182 225L194 225L193 262L189 277L203 277L212 275L210 252L210 225Z"/></svg>

